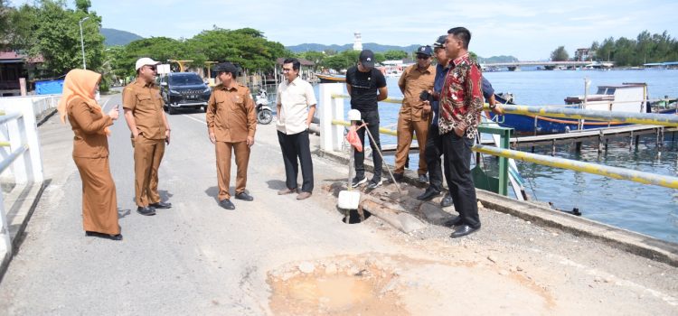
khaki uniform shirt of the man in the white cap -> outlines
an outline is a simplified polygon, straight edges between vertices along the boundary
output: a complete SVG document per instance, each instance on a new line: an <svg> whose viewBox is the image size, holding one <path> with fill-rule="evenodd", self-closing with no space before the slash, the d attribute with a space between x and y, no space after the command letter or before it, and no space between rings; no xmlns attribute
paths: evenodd
<svg viewBox="0 0 678 316"><path fill-rule="evenodd" d="M137 79L122 90L122 107L132 110L139 135L146 139L165 139L164 104L153 82Z"/></svg>

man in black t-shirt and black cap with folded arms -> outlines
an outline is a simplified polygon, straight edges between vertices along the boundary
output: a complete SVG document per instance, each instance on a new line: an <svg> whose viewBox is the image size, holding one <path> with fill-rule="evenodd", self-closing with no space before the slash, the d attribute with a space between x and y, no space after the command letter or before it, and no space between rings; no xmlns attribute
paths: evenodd
<svg viewBox="0 0 678 316"><path fill-rule="evenodd" d="M375 189L381 185L381 150L379 142L379 109L378 102L388 97L386 79L380 70L374 69L374 53L370 50L360 52L358 64L346 71L346 89L351 96L351 108L360 111L363 121L367 123L374 142L370 140L372 147L372 162L374 162L374 176L367 185L368 189ZM378 92L378 93L377 93ZM365 130L358 130L358 137L363 148L365 147ZM365 177L365 153L355 151L355 178L351 185L353 188L367 181Z"/></svg>

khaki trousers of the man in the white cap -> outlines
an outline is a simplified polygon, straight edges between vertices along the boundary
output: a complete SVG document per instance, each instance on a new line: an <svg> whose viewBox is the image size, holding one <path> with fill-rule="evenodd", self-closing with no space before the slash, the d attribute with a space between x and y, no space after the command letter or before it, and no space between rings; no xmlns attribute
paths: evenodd
<svg viewBox="0 0 678 316"><path fill-rule="evenodd" d="M138 135L137 140L132 140L132 144L137 206L146 207L160 201L160 194L157 191L157 170L165 155L165 140L146 139L143 135Z"/></svg>

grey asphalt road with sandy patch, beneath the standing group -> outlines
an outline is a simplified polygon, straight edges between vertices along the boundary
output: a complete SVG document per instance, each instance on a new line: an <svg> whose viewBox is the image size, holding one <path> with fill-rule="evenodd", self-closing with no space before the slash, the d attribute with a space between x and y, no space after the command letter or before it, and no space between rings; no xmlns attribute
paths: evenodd
<svg viewBox="0 0 678 316"><path fill-rule="evenodd" d="M120 96L102 101L108 109ZM302 201L278 196L284 167L275 125L259 125L250 156L248 190L255 200L233 200L235 210L221 209L204 114L168 119L172 142L159 189L173 208L153 217L135 211L127 125L121 119L112 126L121 242L84 236L70 127L58 116L40 127L47 188L0 283L0 314L678 312L676 267L494 210L480 209L483 228L460 239L435 225L402 234L374 216L346 225L325 189L344 181L347 168L317 156L314 195ZM407 190L410 197L421 192ZM313 270L309 266L314 272L298 275ZM309 284L337 271L373 284L375 291L360 292L372 295L361 302L373 305L316 307L327 297L315 297ZM340 299L353 291L343 289L335 288Z"/></svg>

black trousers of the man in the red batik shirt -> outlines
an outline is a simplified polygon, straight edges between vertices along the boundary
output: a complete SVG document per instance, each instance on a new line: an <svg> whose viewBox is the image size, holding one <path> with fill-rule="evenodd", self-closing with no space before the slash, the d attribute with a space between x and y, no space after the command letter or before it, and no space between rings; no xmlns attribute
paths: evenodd
<svg viewBox="0 0 678 316"><path fill-rule="evenodd" d="M473 139L459 137L454 131L440 135L443 144L443 164L449 194L464 224L480 228L476 186L471 176Z"/></svg>

